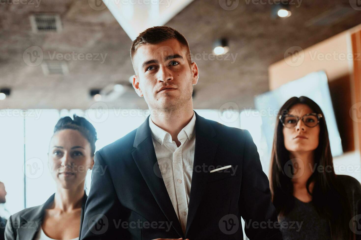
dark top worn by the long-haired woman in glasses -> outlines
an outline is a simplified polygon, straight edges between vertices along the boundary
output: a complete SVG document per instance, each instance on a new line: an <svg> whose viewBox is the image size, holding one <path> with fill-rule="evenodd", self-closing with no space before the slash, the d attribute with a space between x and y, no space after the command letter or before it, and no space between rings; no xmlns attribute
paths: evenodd
<svg viewBox="0 0 361 240"><path fill-rule="evenodd" d="M360 182L346 175L336 175L336 179L342 182L342 185L345 187L351 205L352 217L361 214ZM312 201L305 203L295 197L294 199L295 207L287 216L278 216L283 240L331 239L329 220L317 213ZM361 235L356 234L356 236Z"/></svg>

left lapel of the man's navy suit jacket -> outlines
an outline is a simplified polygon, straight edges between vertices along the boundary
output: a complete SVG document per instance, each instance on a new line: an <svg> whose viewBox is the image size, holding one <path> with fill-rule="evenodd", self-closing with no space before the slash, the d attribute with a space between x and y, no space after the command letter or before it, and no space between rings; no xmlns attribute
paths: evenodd
<svg viewBox="0 0 361 240"><path fill-rule="evenodd" d="M183 237L181 224L179 223L177 214L174 211L173 204L169 198L168 191L162 178L156 173L161 173L157 163L157 157L153 146L151 129L149 127L149 116L147 120L140 125L136 131L134 139L133 158L137 164L140 173L147 183L149 190L153 194L162 212L166 216L171 225L177 231L179 236Z"/></svg>

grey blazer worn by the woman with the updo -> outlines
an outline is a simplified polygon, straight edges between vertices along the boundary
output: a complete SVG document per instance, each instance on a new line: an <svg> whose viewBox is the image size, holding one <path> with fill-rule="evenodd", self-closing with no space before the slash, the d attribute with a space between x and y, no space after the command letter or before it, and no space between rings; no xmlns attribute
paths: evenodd
<svg viewBox="0 0 361 240"><path fill-rule="evenodd" d="M45 209L53 203L54 196L55 193L42 205L23 209L10 216L5 226L5 240L33 240L42 225ZM87 198L88 196L84 193L80 226L83 224ZM81 232L80 226L79 237Z"/></svg>

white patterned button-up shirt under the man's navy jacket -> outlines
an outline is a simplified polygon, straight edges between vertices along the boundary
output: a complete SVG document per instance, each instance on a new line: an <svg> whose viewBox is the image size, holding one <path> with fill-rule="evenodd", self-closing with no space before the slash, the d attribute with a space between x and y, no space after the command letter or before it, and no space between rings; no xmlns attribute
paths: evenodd
<svg viewBox="0 0 361 240"><path fill-rule="evenodd" d="M181 145L177 147L170 133L154 124L149 117L149 127L159 168L184 234L187 226L196 143L195 123L196 114L193 111L191 121L178 133L177 138Z"/></svg>

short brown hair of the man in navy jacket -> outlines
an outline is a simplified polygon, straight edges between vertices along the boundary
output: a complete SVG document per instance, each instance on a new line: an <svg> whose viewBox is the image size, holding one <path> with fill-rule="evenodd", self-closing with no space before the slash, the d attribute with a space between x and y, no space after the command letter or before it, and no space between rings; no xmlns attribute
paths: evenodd
<svg viewBox="0 0 361 240"><path fill-rule="evenodd" d="M138 37L133 41L132 47L130 49L130 57L132 61L134 54L140 46L146 44L158 44L170 39L177 39L183 46L187 48L187 59L191 63L192 60L190 58L190 50L187 39L177 30L166 26L151 27L138 35Z"/></svg>

